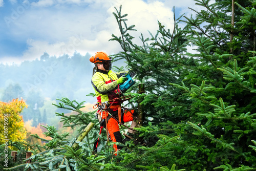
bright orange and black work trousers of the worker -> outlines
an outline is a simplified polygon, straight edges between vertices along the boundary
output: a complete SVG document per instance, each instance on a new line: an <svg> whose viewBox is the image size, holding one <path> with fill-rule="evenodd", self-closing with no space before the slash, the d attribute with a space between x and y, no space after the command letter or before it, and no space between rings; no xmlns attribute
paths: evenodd
<svg viewBox="0 0 256 171"><path fill-rule="evenodd" d="M121 115L121 122L130 122L134 120L134 117L136 116L136 112L132 109L126 109L122 108L124 111ZM109 113L114 116L117 120L118 118L118 111L110 110ZM110 134L110 138L113 142L121 142L122 143L122 136L120 133L119 125L117 120L115 120L113 117L109 116L108 112L102 111L102 119L106 118L106 127L108 129L108 132ZM131 127L132 128L132 127ZM120 148L118 145L113 145L115 151L118 151Z"/></svg>

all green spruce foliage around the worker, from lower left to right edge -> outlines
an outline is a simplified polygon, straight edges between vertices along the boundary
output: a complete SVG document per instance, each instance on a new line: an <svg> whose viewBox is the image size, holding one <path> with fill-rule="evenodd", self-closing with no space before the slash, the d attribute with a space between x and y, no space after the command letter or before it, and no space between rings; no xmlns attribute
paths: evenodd
<svg viewBox="0 0 256 171"><path fill-rule="evenodd" d="M256 2L195 3L202 9L196 16L175 16L174 29L159 21L158 33L141 35L141 45L133 42L137 30L126 24L122 6L113 13L120 35L113 34L111 41L122 48L115 59L137 73L136 84L125 94L131 97L127 106L138 108L141 119L136 137L120 143L117 155L105 130L99 136L95 112L82 111L83 102L62 95L55 106L75 113L57 116L63 126L79 127L79 134L69 138L47 125L51 140L29 146L31 163L8 169L256 170ZM28 145L16 147L21 151Z"/></svg>

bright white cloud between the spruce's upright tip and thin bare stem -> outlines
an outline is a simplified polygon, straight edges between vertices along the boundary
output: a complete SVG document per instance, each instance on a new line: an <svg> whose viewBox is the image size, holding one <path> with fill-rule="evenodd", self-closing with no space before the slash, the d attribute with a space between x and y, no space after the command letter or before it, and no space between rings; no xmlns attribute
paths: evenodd
<svg viewBox="0 0 256 171"><path fill-rule="evenodd" d="M117 7L119 10L119 6ZM110 9L112 12L114 8ZM122 4L122 14L128 14L126 22L128 26L135 25L137 32L132 33L134 37L139 37L142 33L145 37L149 37L150 31L153 35L158 30L158 20L170 30L174 27L172 9L165 7L161 2L155 1L147 4L140 0L125 1ZM111 16L114 19L114 16ZM118 28L117 23L114 26Z"/></svg>

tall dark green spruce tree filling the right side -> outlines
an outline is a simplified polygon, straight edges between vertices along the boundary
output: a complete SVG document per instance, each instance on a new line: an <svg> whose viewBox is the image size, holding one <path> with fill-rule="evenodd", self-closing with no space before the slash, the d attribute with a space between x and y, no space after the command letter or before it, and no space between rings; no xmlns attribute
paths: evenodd
<svg viewBox="0 0 256 171"><path fill-rule="evenodd" d="M192 9L196 17L177 19L173 32L159 22L157 35L141 35L142 46L133 44L127 30L111 39L123 49L115 59L126 59L145 84L145 93L132 94L131 100L136 106L143 98L140 104L146 106L144 127L137 134L147 141L160 132L179 135L168 145L173 155L167 158L180 168L255 169L256 155L249 148L255 134L254 8L237 1L232 25L230 1L196 4L202 7ZM122 15L115 17L119 22ZM180 29L179 22L186 26ZM186 53L187 46L196 52ZM156 162L150 163L140 167L153 170Z"/></svg>

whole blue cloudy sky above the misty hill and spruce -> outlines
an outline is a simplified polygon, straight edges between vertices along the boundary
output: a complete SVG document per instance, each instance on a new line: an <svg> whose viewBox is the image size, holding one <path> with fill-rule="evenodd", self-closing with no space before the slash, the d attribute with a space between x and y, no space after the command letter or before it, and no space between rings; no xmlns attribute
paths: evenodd
<svg viewBox="0 0 256 171"><path fill-rule="evenodd" d="M192 0L0 0L0 63L34 60L45 52L56 57L118 53L120 45L109 39L120 36L112 14L120 5L127 25L136 26L137 44L140 33L156 34L158 20L173 29L174 6L176 17L190 15L188 7L199 8Z"/></svg>

